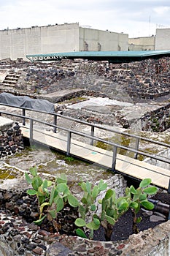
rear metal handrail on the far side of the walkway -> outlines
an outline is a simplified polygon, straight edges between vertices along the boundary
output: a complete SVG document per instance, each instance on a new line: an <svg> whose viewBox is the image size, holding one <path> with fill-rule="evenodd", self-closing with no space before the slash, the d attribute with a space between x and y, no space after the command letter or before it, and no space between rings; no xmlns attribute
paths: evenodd
<svg viewBox="0 0 170 256"><path fill-rule="evenodd" d="M56 124L57 122L57 117L61 117L61 118L65 118L65 119L68 119L70 121L76 121L77 123L80 123L80 124L85 124L85 125L88 125L91 127L92 131L91 133L94 133L94 128L98 128L98 129L103 129L104 131L108 131L108 132L115 132L119 135L125 135L125 136L128 136L128 137L131 137L131 138L135 138L136 140L136 148L138 148L139 146L139 140L144 140L144 141L147 141L147 142L150 142L150 143L155 143L159 146L164 146L164 147L167 147L167 148L170 148L170 144L167 144L167 143L162 143L161 141L156 141L156 140L150 140L148 138L144 138L142 136L139 136L139 135L132 135L132 134L129 134L128 132L120 132L120 131L117 131L115 129L111 129L111 128L108 128L108 127L101 127L101 125L98 125L98 124L91 124L87 121L82 121L82 120L79 120L79 119L76 119L76 118L72 118L70 116L63 116L62 114L60 113L55 113L55 112L47 112L47 111L43 111L43 110L34 110L32 108L24 108L24 107L20 107L20 106L16 106L16 105L9 105L9 104L4 104L4 103L0 103L0 105L5 105L5 106L8 106L8 107L11 107L11 108L20 108L21 110L23 110L23 125L24 124L24 118L25 118L25 115L26 115L26 112L25 110L31 110L31 111L34 111L34 112L38 112L38 113L46 113L48 115L52 115L54 116L54 122L53 124ZM0 116L1 116L1 113L2 111L0 110Z"/></svg>

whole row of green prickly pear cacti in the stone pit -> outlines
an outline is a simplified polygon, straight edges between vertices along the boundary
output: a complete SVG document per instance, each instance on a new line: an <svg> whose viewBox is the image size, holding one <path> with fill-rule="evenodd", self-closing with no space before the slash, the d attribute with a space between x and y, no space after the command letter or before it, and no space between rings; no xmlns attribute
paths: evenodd
<svg viewBox="0 0 170 256"><path fill-rule="evenodd" d="M125 196L118 197L114 189L107 189L107 184L103 180L98 185L92 187L89 181L80 183L83 196L79 202L69 190L67 178L64 173L55 178L55 182L43 180L39 177L36 167L31 167L30 174L25 173L26 181L32 185L28 189L28 195L36 195L39 207L39 219L34 221L36 225L41 225L42 221L47 218L57 227L56 217L59 211L69 203L70 206L78 208L80 217L75 221L77 225L76 233L83 238L93 238L94 230L104 227L106 241L110 241L112 229L117 220L131 209L133 214L133 230L138 233L137 223L142 219L137 217L141 207L151 210L154 205L147 200L147 197L154 195L158 189L151 186L151 179L145 178L140 182L139 188L134 186L125 189ZM96 214L96 200L101 191L106 190L104 197L98 200L101 204L101 212ZM87 216L90 220L87 221ZM87 230L89 235L86 236Z"/></svg>

